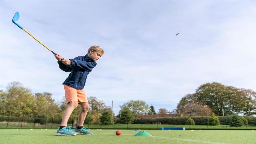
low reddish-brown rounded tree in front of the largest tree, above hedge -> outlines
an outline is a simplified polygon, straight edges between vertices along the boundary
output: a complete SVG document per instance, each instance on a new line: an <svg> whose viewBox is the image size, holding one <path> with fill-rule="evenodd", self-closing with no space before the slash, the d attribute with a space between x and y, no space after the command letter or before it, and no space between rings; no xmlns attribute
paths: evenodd
<svg viewBox="0 0 256 144"><path fill-rule="evenodd" d="M188 103L183 107L182 115L189 116L206 116L211 115L212 110L206 106L197 103Z"/></svg>

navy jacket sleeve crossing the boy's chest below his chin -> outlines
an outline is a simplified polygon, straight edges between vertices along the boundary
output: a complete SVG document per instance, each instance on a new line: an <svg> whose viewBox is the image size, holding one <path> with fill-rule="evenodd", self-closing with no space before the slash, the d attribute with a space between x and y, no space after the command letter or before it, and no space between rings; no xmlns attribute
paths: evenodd
<svg viewBox="0 0 256 144"><path fill-rule="evenodd" d="M78 60L76 58L74 59L69 59L71 61L71 67L74 69L82 69L85 71L91 72L92 69L97 65L96 62L86 62L83 60Z"/></svg>

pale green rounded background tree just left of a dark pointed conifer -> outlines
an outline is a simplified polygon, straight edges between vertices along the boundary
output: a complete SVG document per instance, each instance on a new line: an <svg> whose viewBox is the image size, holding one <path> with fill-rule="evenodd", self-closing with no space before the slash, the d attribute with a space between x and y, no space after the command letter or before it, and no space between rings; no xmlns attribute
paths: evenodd
<svg viewBox="0 0 256 144"><path fill-rule="evenodd" d="M121 110L129 109L135 115L142 115L143 113L148 111L149 106L146 104L146 102L142 100L131 100L121 105L120 108Z"/></svg>

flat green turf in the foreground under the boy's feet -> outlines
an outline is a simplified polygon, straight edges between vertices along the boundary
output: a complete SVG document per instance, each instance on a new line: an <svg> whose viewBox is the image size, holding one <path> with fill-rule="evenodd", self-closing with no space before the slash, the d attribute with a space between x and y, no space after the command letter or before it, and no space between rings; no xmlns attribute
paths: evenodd
<svg viewBox="0 0 256 144"><path fill-rule="evenodd" d="M56 130L40 129L0 129L2 144L26 143L90 143L90 144L255 144L256 131L252 130L141 130L150 133L150 137L133 136L138 131L120 130L91 130L93 135L55 136Z"/></svg>

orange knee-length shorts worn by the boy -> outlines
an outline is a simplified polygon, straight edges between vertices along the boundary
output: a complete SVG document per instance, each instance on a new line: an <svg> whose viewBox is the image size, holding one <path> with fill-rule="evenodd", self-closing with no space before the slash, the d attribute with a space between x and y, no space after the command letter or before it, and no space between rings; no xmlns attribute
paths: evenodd
<svg viewBox="0 0 256 144"><path fill-rule="evenodd" d="M77 101L78 104L81 102L88 102L84 90L77 90L68 85L64 85L64 89L67 103L70 101Z"/></svg>

